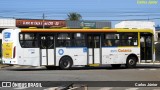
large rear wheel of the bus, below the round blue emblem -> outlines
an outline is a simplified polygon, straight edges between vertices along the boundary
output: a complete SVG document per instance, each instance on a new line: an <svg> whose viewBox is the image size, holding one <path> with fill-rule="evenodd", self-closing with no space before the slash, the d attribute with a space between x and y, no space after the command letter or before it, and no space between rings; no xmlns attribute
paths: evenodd
<svg viewBox="0 0 160 90"><path fill-rule="evenodd" d="M59 66L62 70L70 69L72 65L73 65L73 61L68 56L62 57L62 59L59 62Z"/></svg>

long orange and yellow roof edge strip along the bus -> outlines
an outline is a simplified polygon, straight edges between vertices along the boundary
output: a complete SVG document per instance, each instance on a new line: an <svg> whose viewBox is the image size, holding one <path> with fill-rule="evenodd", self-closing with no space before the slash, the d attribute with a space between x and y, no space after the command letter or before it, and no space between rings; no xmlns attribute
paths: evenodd
<svg viewBox="0 0 160 90"><path fill-rule="evenodd" d="M80 33L104 33L104 32L150 32L151 29L21 29L21 32L80 32Z"/></svg>

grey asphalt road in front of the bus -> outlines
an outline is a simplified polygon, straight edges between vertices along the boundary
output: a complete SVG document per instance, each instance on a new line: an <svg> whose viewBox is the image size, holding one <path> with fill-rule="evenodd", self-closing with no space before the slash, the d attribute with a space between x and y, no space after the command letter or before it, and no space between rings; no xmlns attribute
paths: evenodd
<svg viewBox="0 0 160 90"><path fill-rule="evenodd" d="M160 81L160 65L139 65L134 69L112 69L108 67L76 67L72 70L46 70L45 67L12 66L0 69L0 81ZM93 82L92 82L93 83ZM95 82L94 82L95 83ZM102 82L100 82L102 83ZM111 83L111 82L109 82ZM120 82L121 83L121 82ZM146 83L146 82L145 82ZM97 82L98 84L98 82ZM96 84L96 85L97 85ZM125 82L122 84L125 84ZM160 83L158 83L159 85ZM135 84L134 84L135 85ZM57 86L60 87L60 86ZM4 88L9 89L37 89L54 90L53 87L42 88ZM89 87L89 90L160 90L160 87Z"/></svg>

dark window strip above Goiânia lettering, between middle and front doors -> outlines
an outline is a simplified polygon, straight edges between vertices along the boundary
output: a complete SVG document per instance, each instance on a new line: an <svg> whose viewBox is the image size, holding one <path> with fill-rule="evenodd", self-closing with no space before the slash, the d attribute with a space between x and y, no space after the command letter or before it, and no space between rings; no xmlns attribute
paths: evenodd
<svg viewBox="0 0 160 90"><path fill-rule="evenodd" d="M107 33L104 35L104 46L137 46L138 33Z"/></svg>

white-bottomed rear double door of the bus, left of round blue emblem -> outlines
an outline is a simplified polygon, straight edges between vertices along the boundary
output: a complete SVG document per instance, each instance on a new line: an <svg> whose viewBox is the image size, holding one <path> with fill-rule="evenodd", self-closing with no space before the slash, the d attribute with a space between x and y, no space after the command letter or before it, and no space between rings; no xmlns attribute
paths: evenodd
<svg viewBox="0 0 160 90"><path fill-rule="evenodd" d="M54 35L40 34L41 65L54 65Z"/></svg>

